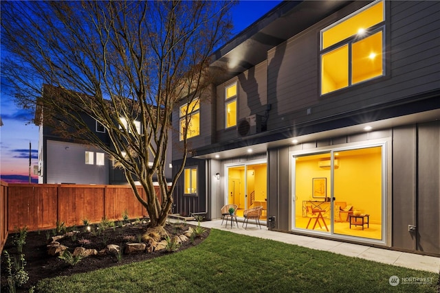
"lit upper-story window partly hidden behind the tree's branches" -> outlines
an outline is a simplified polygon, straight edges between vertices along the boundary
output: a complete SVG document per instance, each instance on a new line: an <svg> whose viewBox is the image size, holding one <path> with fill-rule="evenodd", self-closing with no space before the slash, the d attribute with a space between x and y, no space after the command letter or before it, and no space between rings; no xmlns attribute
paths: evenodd
<svg viewBox="0 0 440 293"><path fill-rule="evenodd" d="M194 99L189 104L184 104L179 109L180 117L180 140L184 140L185 130L188 126L186 138L195 137L200 134L200 104L199 99Z"/></svg>

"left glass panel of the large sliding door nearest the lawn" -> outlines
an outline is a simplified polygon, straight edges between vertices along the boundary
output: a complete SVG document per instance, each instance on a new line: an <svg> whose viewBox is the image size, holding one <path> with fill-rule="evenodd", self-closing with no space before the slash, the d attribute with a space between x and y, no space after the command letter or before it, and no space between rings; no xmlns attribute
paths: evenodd
<svg viewBox="0 0 440 293"><path fill-rule="evenodd" d="M295 158L295 228L331 231L330 153Z"/></svg>

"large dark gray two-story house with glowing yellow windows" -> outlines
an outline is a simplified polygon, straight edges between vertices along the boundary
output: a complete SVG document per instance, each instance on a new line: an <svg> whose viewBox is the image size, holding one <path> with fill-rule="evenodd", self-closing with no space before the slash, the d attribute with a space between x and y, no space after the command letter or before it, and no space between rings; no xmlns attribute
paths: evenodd
<svg viewBox="0 0 440 293"><path fill-rule="evenodd" d="M439 15L439 1L285 1L233 38L191 113L176 212L261 205L277 231L440 255Z"/></svg>

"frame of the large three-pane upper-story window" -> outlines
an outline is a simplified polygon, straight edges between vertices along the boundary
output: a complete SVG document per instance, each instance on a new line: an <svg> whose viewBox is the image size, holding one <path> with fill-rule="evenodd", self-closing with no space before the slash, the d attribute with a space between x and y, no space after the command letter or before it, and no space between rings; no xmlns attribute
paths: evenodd
<svg viewBox="0 0 440 293"><path fill-rule="evenodd" d="M358 34L353 34L347 38L344 38L343 40L340 40L336 43L333 43L332 45L329 45L325 48L322 48L323 46L323 36L322 34L328 30L330 30L331 28L335 27L336 25L339 25L340 23L343 23L344 21L347 21L348 19L351 19L353 16L356 16L362 12L364 12L365 10L371 8L373 5L376 5L377 3L382 2L383 5L383 9L382 9L382 17L383 20L380 21L380 23L376 23L375 25L372 25L371 27L366 27L365 32L362 36L359 36ZM319 58L320 58L320 64L319 64L319 94L320 97L325 96L325 95L330 95L332 93L336 93L345 89L349 89L352 86L356 86L358 84L363 84L364 82L371 82L371 80L376 80L378 78L384 78L387 75L387 71L388 71L388 67L386 60L388 60L387 58L387 54L386 54L386 44L387 44L387 40L386 40L386 22L387 22L387 17L386 17L386 1L384 0L376 0L373 1L372 3L369 3L368 5L365 5L364 7L356 10L355 12L345 16L344 18L340 19L339 21L336 21L335 23L332 23L331 25L327 25L327 27L324 27L322 30L320 30L320 47L319 47ZM364 80L360 80L358 82L353 82L353 56L352 56L352 50L353 50L353 44L354 43L358 43L361 40L364 40L366 38L369 38L379 32L382 32L382 74L381 75L375 75L372 78L367 78ZM338 89L335 89L333 91L328 91L327 93L322 93L322 82L323 82L323 78L322 78L322 73L323 73L323 68L322 68L322 59L323 56L325 56L326 54L329 54L330 52L336 51L338 49L341 49L342 47L344 47L345 45L347 45L348 47L348 56L347 56L347 62L349 67L347 68L347 74L348 74L348 80L347 80L347 86L343 86L340 87Z"/></svg>

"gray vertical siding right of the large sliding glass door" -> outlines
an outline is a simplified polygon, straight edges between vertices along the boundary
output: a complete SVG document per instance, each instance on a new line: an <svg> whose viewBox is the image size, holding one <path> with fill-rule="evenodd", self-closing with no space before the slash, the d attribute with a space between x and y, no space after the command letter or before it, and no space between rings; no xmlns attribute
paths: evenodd
<svg viewBox="0 0 440 293"><path fill-rule="evenodd" d="M439 254L440 122L393 130L393 247ZM408 232L415 225L415 233Z"/></svg>

